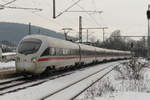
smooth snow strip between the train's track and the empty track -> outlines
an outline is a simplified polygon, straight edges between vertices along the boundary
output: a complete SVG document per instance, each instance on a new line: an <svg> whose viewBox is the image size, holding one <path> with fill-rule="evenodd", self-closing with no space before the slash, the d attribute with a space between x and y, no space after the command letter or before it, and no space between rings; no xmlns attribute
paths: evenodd
<svg viewBox="0 0 150 100"><path fill-rule="evenodd" d="M41 99L41 97L45 97L53 93L54 91L57 91L61 89L62 87L67 86L68 84L71 84L77 80L80 80L85 76L88 76L90 73L97 72L98 70L105 68L106 66L110 66L112 64L115 65L117 63L112 62L108 64L96 65L95 67L90 67L86 70L77 71L76 73L73 73L71 75L57 78L55 80L50 80L38 86L30 87L30 88L27 88L18 92L9 93L9 94L0 96L0 100L1 99L8 100L10 98L11 100L39 100Z"/></svg>

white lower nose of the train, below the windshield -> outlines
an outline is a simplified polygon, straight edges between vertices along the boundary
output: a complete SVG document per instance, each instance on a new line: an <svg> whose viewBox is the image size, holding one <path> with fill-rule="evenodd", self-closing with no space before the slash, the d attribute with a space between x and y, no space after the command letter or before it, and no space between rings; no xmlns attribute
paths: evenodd
<svg viewBox="0 0 150 100"><path fill-rule="evenodd" d="M36 62L32 62L31 59L23 58L20 61L16 61L16 71L33 73L36 70Z"/></svg>

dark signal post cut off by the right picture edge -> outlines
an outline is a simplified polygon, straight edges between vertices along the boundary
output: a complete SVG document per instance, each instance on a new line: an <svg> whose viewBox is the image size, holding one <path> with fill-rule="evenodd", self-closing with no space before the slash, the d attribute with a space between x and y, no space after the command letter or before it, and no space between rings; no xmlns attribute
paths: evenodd
<svg viewBox="0 0 150 100"><path fill-rule="evenodd" d="M150 57L150 5L148 5L148 10L147 10L147 19L148 19L148 40L147 40L147 44L148 44L148 57Z"/></svg>

